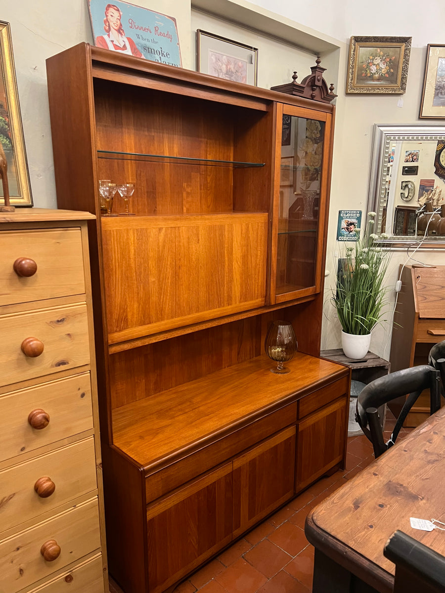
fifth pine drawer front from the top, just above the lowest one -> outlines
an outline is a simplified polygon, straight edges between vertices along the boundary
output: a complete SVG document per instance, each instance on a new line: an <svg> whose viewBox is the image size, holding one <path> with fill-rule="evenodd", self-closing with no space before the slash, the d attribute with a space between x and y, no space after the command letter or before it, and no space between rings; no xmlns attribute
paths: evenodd
<svg viewBox="0 0 445 593"><path fill-rule="evenodd" d="M44 544L55 540L61 551L52 561L42 556ZM100 547L97 498L49 521L0 541L2 593L17 593Z"/></svg>

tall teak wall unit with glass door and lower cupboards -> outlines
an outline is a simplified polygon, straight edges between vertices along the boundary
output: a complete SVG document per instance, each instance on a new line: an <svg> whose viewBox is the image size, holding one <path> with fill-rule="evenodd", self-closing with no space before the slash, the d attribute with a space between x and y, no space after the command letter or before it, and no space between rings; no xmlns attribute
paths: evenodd
<svg viewBox="0 0 445 593"><path fill-rule="evenodd" d="M110 573L161 593L344 464L350 371L319 358L334 107L83 43L47 75L58 204L97 216ZM101 215L100 179L135 183L132 215Z"/></svg>

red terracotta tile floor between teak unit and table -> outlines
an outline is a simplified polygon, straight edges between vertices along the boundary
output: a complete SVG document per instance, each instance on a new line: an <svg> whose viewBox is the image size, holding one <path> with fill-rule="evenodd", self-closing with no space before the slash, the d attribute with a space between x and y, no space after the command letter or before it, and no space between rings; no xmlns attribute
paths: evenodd
<svg viewBox="0 0 445 593"><path fill-rule="evenodd" d="M394 424L388 411L386 440ZM399 439L410 430L402 428ZM344 470L313 484L177 585L174 593L309 593L314 548L304 535L306 515L373 460L372 445L364 435L349 437ZM110 593L122 593L112 581Z"/></svg>

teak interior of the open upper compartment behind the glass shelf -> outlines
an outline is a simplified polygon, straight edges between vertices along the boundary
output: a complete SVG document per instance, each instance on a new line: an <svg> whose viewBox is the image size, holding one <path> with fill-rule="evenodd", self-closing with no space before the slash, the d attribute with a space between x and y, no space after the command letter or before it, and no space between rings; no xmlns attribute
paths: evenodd
<svg viewBox="0 0 445 593"><path fill-rule="evenodd" d="M98 158L100 179L135 182L132 212L162 215L231 211L234 175L239 188L235 209L269 208L272 158L270 144L264 139L273 125L270 113L147 88L110 87L100 80L95 80L94 85L98 150L268 164L267 168L233 171L226 166L174 160ZM253 192L252 183L256 187ZM248 194L253 196L249 204L245 197ZM113 211L123 212L118 196Z"/></svg>

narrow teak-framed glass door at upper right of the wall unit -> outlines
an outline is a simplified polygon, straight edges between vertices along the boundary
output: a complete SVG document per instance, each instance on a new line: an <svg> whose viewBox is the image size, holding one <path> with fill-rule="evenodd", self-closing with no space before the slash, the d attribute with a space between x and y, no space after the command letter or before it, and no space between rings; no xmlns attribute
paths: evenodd
<svg viewBox="0 0 445 593"><path fill-rule="evenodd" d="M330 117L323 111L292 106L278 113L272 303L320 291Z"/></svg>

